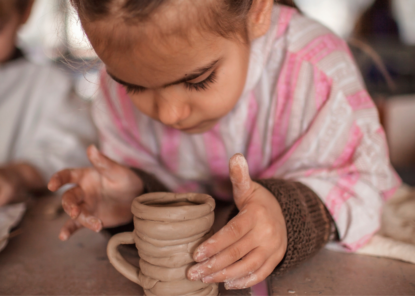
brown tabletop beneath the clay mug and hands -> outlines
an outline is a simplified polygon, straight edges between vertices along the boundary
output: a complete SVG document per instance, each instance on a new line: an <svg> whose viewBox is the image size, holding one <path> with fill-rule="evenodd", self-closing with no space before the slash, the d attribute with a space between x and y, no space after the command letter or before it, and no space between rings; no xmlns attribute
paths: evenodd
<svg viewBox="0 0 415 296"><path fill-rule="evenodd" d="M1 295L142 295L140 286L118 273L107 259L108 236L80 230L67 242L57 235L66 215L50 218L56 197L29 206L20 234L0 252ZM224 220L227 213L217 213ZM219 226L216 226L219 227ZM137 250L122 247L137 264ZM321 250L280 277L269 278L270 295L415 295L415 264ZM249 290L221 295L249 295Z"/></svg>

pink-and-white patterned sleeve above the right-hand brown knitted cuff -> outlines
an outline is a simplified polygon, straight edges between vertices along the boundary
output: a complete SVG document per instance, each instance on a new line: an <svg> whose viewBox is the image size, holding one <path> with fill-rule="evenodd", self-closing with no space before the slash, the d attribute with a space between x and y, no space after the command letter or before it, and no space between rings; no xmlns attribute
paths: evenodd
<svg viewBox="0 0 415 296"><path fill-rule="evenodd" d="M378 230L382 203L400 179L347 44L299 14L287 31L272 161L259 178L295 180L312 189L336 223L339 246L354 251Z"/></svg>

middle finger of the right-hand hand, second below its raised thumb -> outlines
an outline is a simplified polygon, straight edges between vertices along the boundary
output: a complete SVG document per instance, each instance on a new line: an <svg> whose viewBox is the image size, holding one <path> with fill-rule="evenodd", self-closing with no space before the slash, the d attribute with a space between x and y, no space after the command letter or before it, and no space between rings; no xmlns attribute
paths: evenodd
<svg viewBox="0 0 415 296"><path fill-rule="evenodd" d="M188 279L195 281L228 267L244 257L249 251L255 249L257 247L255 242L255 234L252 233L252 231L247 233L247 235L227 247L225 250L190 267L188 270Z"/></svg>

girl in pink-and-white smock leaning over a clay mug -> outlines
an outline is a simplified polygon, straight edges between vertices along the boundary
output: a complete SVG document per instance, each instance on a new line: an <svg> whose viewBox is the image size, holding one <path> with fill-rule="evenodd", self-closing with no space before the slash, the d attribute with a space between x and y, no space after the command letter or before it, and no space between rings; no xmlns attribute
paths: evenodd
<svg viewBox="0 0 415 296"><path fill-rule="evenodd" d="M63 196L62 240L131 221L144 192L233 198L239 214L195 250L188 278L241 289L331 234L354 251L378 229L400 181L349 49L328 29L273 0L72 3L106 66L94 110L103 154L90 147L94 168L49 182L78 184Z"/></svg>

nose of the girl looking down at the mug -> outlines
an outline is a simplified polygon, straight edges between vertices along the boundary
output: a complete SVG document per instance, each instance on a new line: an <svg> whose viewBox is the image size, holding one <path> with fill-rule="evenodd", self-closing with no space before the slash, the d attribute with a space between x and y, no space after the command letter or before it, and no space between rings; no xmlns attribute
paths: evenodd
<svg viewBox="0 0 415 296"><path fill-rule="evenodd" d="M190 115L190 105L178 94L164 92L157 98L159 120L172 126L180 123Z"/></svg>

